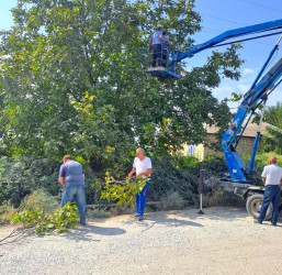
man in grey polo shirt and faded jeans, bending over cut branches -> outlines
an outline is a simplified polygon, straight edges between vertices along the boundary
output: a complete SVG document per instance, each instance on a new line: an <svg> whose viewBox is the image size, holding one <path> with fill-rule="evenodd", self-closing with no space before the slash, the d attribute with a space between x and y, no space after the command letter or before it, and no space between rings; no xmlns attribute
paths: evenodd
<svg viewBox="0 0 282 275"><path fill-rule="evenodd" d="M84 172L82 165L65 155L59 169L59 183L64 187L61 207L71 201L76 196L76 202L80 215L81 226L86 226L86 190Z"/></svg>

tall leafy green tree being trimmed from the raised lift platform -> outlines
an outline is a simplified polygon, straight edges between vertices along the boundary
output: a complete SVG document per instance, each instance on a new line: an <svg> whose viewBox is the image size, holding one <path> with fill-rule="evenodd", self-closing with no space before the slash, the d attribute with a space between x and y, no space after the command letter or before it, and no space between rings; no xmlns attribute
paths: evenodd
<svg viewBox="0 0 282 275"><path fill-rule="evenodd" d="M174 48L201 30L194 0L19 0L1 32L1 132L7 155L91 157L119 169L137 145L155 155L203 142L203 123L223 127L221 77L238 79L233 45L178 81L146 74L158 25Z"/></svg>

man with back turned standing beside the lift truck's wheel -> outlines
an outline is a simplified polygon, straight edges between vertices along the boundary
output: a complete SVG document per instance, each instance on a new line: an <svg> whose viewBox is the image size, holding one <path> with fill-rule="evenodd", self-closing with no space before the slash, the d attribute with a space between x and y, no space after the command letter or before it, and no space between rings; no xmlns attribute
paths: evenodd
<svg viewBox="0 0 282 275"><path fill-rule="evenodd" d="M271 224L277 226L278 222L278 209L279 201L281 197L280 185L282 184L282 168L277 165L277 157L269 157L269 165L263 168L262 172L262 182L266 186L262 205L260 208L260 216L258 220L255 220L256 223L262 223L266 218L268 207L272 202L272 218Z"/></svg>

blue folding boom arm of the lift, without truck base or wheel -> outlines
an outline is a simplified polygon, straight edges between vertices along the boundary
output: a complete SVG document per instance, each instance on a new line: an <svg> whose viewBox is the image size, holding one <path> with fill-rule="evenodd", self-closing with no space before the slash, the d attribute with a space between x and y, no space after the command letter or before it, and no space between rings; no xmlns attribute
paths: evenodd
<svg viewBox="0 0 282 275"><path fill-rule="evenodd" d="M194 54L202 52L206 48L211 48L214 46L221 46L221 45L226 45L223 44L224 41L239 37L242 35L247 34L257 34L261 32L268 32L268 31L273 31L277 29L282 29L282 20L275 20L271 22L266 22L261 24L256 24L256 25L250 25L246 28L239 28L235 29L232 31L224 32L216 37L194 46L193 48L183 52L183 51L176 51L171 54L172 57L172 63L171 63L171 70L168 70L167 68L162 74L167 74L167 77L176 77L179 78L179 76L176 74L176 65L178 62L181 62L182 59L187 57L192 57ZM278 34L280 32L275 33L270 33L268 35L273 35ZM256 37L252 38L258 38L267 35L257 35ZM282 36L281 36L282 37ZM229 125L227 131L224 131L222 133L223 139L222 139L222 146L223 151L225 154L226 163L228 166L228 172L230 179L233 182L237 183L252 183L251 179L251 174L252 174L252 167L255 163L255 157L257 153L257 147L258 147L258 142L259 142L259 136L260 133L258 132L256 140L255 140L255 145L252 150L252 156L251 156L251 162L250 166L247 169L240 158L240 156L236 152L236 147L239 144L239 140L241 138L242 132L245 131L248 122L250 121L251 114L253 114L255 110L261 105L267 101L268 96L270 92L273 91L273 89L282 81L282 58L261 78L263 72L266 70L267 66L269 65L273 54L278 50L278 45L281 41L281 37L279 42L274 45L273 50L271 51L267 62L262 66L260 73L258 74L256 80L253 81L251 88L247 91L247 94L244 97L244 100L241 105L238 108L238 111L236 116L234 117L232 124ZM229 44L236 43L238 41L230 42ZM157 75L157 74L156 74ZM160 75L163 76L163 75ZM249 116L249 120L246 123L245 128L242 129L242 123L246 120L246 117ZM241 131L242 129L242 131ZM236 145L234 146L235 139L238 136L239 132L241 131L241 134L239 139L237 140Z"/></svg>

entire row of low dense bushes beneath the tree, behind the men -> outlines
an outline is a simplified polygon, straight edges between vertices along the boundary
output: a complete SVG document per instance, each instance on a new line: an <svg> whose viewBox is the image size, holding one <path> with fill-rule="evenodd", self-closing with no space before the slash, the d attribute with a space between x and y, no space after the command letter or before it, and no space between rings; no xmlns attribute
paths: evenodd
<svg viewBox="0 0 282 275"><path fill-rule="evenodd" d="M61 196L61 186L57 182L59 163L46 158L36 161L3 158L0 164L2 169L0 205L7 205L9 201L12 206L20 207L20 210L40 209L45 212L54 211L59 205ZM211 176L222 176L227 170L224 160L214 157L203 163L182 156L153 158L153 165L154 174L148 199L162 200L177 191L190 206L198 199L201 168L205 168ZM89 205L105 204L108 199L108 197L100 198L105 184L104 178L98 176L99 174L90 169L86 170L86 193ZM115 201L114 198L112 199Z"/></svg>

